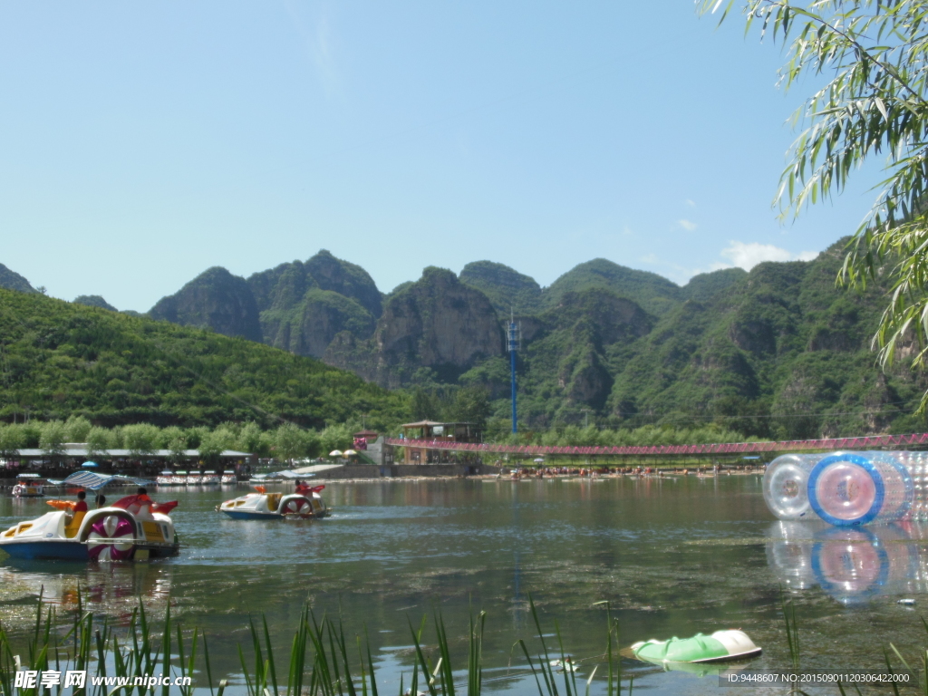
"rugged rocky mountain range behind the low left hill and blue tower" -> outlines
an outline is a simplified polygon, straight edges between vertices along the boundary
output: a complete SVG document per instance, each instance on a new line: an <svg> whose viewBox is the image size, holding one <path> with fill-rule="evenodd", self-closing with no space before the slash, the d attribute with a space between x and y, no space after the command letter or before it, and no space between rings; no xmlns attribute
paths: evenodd
<svg viewBox="0 0 928 696"><path fill-rule="evenodd" d="M247 281L212 269L152 315L171 318L156 311L167 303L181 323L233 335L251 327L249 335L290 353L411 389L417 413L466 387L461 398L471 405L489 399L491 431L509 427L512 309L522 332L520 418L530 430L586 419L715 423L764 437L922 429L909 414L928 382L874 367L870 336L885 291L835 287L843 248L807 263L705 273L682 288L595 259L542 289L481 261L459 277L427 268L386 296L360 266L320 251Z"/></svg>

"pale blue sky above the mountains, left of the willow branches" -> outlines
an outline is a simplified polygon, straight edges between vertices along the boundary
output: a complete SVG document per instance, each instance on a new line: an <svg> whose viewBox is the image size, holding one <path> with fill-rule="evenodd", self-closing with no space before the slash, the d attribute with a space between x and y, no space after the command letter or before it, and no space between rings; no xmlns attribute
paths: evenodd
<svg viewBox="0 0 928 696"><path fill-rule="evenodd" d="M879 173L781 225L805 92L715 24L689 0L0 2L0 263L147 311L319 249L383 291L481 259L549 285L807 258Z"/></svg>

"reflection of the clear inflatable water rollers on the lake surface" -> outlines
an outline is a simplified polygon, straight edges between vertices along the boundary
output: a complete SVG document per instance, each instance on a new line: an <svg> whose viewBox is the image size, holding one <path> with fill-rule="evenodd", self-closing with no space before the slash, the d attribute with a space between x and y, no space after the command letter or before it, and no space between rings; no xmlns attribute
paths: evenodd
<svg viewBox="0 0 928 696"><path fill-rule="evenodd" d="M775 522L767 562L783 586L819 586L842 604L928 592L928 526L872 527Z"/></svg>

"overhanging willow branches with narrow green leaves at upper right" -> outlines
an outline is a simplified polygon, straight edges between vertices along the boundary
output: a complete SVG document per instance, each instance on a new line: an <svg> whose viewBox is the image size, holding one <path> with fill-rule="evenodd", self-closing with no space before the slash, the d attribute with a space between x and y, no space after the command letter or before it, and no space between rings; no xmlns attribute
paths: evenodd
<svg viewBox="0 0 928 696"><path fill-rule="evenodd" d="M722 3L701 0L702 12ZM735 5L729 0L722 19ZM877 282L890 290L875 329L883 367L897 357L925 366L928 345L928 4L923 0L740 2L750 30L787 47L780 71L785 89L807 75L827 75L796 110L805 129L781 175L783 213L840 193L851 175L884 158L885 179L840 269L856 288ZM818 80L816 80L818 84ZM920 410L928 407L924 392Z"/></svg>

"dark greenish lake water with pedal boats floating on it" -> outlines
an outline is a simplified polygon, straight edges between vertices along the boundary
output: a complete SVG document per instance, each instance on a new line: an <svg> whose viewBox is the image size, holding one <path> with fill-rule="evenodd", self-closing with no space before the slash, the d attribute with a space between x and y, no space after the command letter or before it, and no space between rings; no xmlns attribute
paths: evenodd
<svg viewBox="0 0 928 696"><path fill-rule="evenodd" d="M243 522L214 511L245 490L159 490L161 500L180 500L176 559L0 561L0 621L26 630L40 586L45 601L65 609L80 588L95 611L123 622L138 596L156 615L170 602L185 625L206 631L214 680L240 685L236 645L250 641L249 616L266 616L282 670L309 601L317 614L341 612L352 634L367 627L386 694L396 693L401 672L408 685L407 617L419 625L428 614L431 626L436 610L457 667L466 667L469 614L484 611L485 690L536 693L521 653L511 652L518 638L537 646L530 596L548 633L557 622L584 680L605 648L605 610L596 604L604 600L624 646L741 628L764 649L752 669L789 664L780 588L796 605L806 669L879 668L889 642L920 663L917 649L928 644L920 619L928 531L776 522L757 475L333 483L323 495L334 511L321 521ZM0 528L47 510L40 500L0 498ZM903 598L917 604L898 604ZM626 669L636 690L652 694L721 690L712 676L633 662Z"/></svg>

